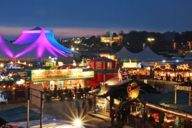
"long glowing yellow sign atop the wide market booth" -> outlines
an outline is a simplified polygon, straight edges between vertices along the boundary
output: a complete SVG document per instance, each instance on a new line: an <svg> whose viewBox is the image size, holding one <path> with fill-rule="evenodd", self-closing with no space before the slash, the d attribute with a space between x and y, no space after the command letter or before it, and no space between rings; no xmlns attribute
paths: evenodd
<svg viewBox="0 0 192 128"><path fill-rule="evenodd" d="M83 71L81 68L76 69L62 69L62 70L32 70L32 81L50 81L50 80L66 80L66 79L80 79L93 78L94 71Z"/></svg>

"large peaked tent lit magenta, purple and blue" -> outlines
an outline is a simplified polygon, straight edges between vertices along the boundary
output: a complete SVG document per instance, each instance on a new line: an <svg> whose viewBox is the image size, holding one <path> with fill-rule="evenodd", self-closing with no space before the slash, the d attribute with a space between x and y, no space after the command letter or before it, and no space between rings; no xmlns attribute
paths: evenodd
<svg viewBox="0 0 192 128"><path fill-rule="evenodd" d="M24 49L17 52L15 58L44 58L49 56L60 58L70 57L75 53L58 43L51 30L39 27L23 31L13 44Z"/></svg>

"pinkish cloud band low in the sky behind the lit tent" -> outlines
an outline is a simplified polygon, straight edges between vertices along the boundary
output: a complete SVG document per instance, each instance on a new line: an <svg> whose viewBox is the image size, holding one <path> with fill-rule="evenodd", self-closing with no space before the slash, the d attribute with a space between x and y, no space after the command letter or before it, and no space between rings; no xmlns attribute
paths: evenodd
<svg viewBox="0 0 192 128"><path fill-rule="evenodd" d="M5 36L19 36L23 30L32 29L32 27L9 27L0 26L0 34ZM83 28L83 27L48 27L48 29L53 30L55 36L62 37L74 37L74 36L92 36L101 35L108 31L120 32L122 28ZM126 31L126 30L124 30ZM129 30L127 30L129 31Z"/></svg>

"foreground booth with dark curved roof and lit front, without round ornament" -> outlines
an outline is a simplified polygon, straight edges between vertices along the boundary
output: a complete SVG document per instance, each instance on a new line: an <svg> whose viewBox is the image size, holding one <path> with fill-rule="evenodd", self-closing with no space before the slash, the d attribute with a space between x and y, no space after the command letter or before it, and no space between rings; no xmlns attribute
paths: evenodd
<svg viewBox="0 0 192 128"><path fill-rule="evenodd" d="M126 88L130 81L130 79L119 81L119 78L115 77L101 83L99 92L95 94L96 106L101 113L110 112L112 107L118 108L120 99L127 96Z"/></svg>

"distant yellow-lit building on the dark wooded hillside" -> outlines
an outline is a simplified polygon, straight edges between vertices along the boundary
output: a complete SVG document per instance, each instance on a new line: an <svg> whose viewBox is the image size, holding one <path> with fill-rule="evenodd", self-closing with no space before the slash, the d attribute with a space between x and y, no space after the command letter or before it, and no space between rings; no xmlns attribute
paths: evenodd
<svg viewBox="0 0 192 128"><path fill-rule="evenodd" d="M113 43L120 43L123 40L123 36L108 32L105 35L102 35L100 40L102 43L109 43L111 45Z"/></svg>

